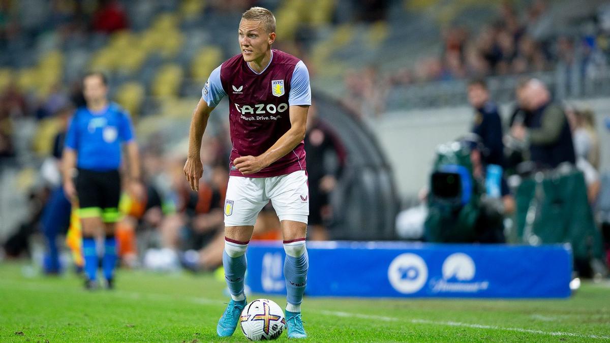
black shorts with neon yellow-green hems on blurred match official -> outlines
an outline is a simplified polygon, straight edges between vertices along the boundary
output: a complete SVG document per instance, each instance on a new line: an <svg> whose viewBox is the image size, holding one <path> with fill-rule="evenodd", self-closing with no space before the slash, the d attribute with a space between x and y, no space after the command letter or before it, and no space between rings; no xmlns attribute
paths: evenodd
<svg viewBox="0 0 610 343"><path fill-rule="evenodd" d="M104 223L120 219L118 202L121 197L121 176L118 170L93 171L78 169L76 176L81 218L100 217Z"/></svg>

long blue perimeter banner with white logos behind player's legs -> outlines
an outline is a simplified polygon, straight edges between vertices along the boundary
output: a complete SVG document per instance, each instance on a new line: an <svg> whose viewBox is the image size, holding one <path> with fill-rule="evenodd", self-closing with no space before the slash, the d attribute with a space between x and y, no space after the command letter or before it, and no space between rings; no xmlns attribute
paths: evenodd
<svg viewBox="0 0 610 343"><path fill-rule="evenodd" d="M565 298L570 245L307 242L306 295L320 297ZM285 294L281 242L253 241L246 281Z"/></svg>

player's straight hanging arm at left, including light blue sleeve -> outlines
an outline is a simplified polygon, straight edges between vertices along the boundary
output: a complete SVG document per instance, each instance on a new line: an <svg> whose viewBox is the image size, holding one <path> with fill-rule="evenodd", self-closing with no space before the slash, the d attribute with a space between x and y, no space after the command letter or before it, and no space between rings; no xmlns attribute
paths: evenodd
<svg viewBox="0 0 610 343"><path fill-rule="evenodd" d="M201 139L206 132L207 120L212 110L226 96L223 85L220 82L220 68L216 68L207 79L206 85L201 90L201 99L193 111L190 129L188 131L188 153L187 162L184 164L184 175L192 190L199 190L199 179L203 175L203 164L201 163Z"/></svg>

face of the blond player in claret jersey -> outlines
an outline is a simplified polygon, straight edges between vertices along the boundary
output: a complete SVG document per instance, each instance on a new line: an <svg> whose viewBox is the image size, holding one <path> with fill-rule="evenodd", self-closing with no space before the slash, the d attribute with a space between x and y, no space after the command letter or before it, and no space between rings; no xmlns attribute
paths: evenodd
<svg viewBox="0 0 610 343"><path fill-rule="evenodd" d="M242 20L239 23L239 46L246 62L262 59L273 43L275 34L265 31L259 21Z"/></svg>

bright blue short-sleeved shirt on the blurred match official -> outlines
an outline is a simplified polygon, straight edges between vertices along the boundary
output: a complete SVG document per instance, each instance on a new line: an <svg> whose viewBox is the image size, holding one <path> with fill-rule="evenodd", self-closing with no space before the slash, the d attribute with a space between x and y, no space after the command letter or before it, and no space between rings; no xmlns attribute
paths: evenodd
<svg viewBox="0 0 610 343"><path fill-rule="evenodd" d="M121 164L121 143L134 139L129 115L110 103L100 112L80 107L70 121L65 146L77 153L78 168L109 171Z"/></svg>

